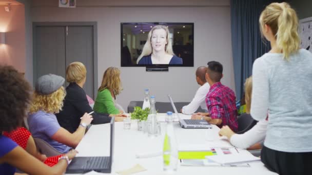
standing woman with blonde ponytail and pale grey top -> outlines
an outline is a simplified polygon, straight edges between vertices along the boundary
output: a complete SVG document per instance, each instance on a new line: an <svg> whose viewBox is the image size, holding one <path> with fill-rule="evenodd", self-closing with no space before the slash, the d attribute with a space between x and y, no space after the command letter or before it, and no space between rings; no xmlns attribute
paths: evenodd
<svg viewBox="0 0 312 175"><path fill-rule="evenodd" d="M312 174L312 54L299 49L298 18L287 3L260 15L271 50L253 63L251 116L269 116L261 160L279 174Z"/></svg>

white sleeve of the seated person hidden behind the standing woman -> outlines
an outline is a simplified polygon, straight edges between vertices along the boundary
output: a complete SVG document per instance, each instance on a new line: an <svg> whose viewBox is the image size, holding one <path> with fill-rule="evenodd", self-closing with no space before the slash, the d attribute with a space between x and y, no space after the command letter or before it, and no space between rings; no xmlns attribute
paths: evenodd
<svg viewBox="0 0 312 175"><path fill-rule="evenodd" d="M230 143L235 147L246 149L253 144L262 142L265 138L267 124L267 120L260 120L246 133L232 135L230 138Z"/></svg>

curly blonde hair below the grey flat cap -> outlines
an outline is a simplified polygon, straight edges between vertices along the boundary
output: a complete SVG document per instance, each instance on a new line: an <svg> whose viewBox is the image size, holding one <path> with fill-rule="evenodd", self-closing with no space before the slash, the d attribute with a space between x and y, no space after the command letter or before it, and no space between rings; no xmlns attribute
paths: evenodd
<svg viewBox="0 0 312 175"><path fill-rule="evenodd" d="M62 110L65 95L66 92L63 86L49 95L34 92L29 113L33 114L40 110L46 113L59 113Z"/></svg>

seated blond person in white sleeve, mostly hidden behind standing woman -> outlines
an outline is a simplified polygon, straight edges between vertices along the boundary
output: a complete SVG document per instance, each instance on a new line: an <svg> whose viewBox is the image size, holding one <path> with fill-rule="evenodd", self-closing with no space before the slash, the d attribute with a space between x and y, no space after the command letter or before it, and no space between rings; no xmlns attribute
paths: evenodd
<svg viewBox="0 0 312 175"><path fill-rule="evenodd" d="M252 77L246 79L245 82L245 101L246 101L246 113L250 114L251 104L251 92L252 92ZM250 146L264 141L266 134L267 120L260 120L255 126L248 130L244 134L235 134L228 126L223 126L219 132L220 135L226 136L230 143L235 147L246 149ZM259 144L258 144L259 145ZM255 145L252 147L256 147ZM261 149L261 147L256 147ZM253 148L255 149L255 148Z"/></svg>

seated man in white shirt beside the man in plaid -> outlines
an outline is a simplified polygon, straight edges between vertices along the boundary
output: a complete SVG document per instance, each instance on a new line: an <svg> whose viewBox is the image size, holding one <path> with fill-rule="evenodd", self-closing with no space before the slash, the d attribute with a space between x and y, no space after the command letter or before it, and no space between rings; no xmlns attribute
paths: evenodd
<svg viewBox="0 0 312 175"><path fill-rule="evenodd" d="M204 66L197 68L196 81L201 86L197 90L193 100L188 105L182 107L181 113L191 115L198 110L199 106L201 106L203 110L208 111L206 102L205 102L205 97L209 91L210 86L206 82L206 78L205 78L206 71L207 71L207 68Z"/></svg>

